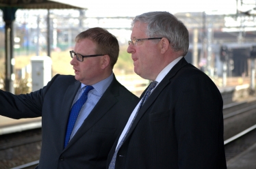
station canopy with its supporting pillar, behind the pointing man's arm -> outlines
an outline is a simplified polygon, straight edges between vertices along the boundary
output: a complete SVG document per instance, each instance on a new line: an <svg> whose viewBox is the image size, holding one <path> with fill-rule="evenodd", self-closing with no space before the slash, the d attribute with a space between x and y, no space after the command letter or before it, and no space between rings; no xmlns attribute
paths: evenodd
<svg viewBox="0 0 256 169"><path fill-rule="evenodd" d="M3 21L5 22L5 91L14 93L14 74L12 58L13 52L13 30L12 23L15 20L16 10L61 10L61 9L80 9L86 10L84 7L62 3L61 1L49 0L0 0L0 10L3 11ZM49 50L49 42L48 42Z"/></svg>

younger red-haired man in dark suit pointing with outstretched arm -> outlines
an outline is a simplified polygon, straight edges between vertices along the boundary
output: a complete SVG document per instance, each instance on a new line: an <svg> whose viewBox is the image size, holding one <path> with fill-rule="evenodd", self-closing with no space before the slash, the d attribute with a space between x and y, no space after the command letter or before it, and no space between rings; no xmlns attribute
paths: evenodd
<svg viewBox="0 0 256 169"><path fill-rule="evenodd" d="M139 101L112 72L119 53L114 35L92 28L79 33L75 42L70 52L75 78L57 74L47 86L29 94L0 91L1 115L42 117L37 168L105 168L114 141ZM81 110L75 106L77 99L87 97ZM78 117L73 117L74 112Z"/></svg>

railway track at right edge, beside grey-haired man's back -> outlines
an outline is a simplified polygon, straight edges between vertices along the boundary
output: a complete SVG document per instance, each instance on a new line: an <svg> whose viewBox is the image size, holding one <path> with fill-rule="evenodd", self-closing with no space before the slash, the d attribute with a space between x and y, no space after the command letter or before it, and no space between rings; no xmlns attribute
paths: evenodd
<svg viewBox="0 0 256 169"><path fill-rule="evenodd" d="M256 142L256 99L225 105L223 108L224 144L227 166Z"/></svg>

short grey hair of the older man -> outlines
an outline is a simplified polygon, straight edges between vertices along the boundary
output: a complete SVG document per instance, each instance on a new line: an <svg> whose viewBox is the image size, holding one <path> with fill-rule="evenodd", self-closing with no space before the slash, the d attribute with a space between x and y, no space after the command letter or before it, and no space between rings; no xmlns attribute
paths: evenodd
<svg viewBox="0 0 256 169"><path fill-rule="evenodd" d="M146 35L149 37L166 37L175 51L182 51L183 57L187 55L188 29L174 15L169 12L147 12L136 16L131 22L131 26L133 27L137 21L148 25Z"/></svg>

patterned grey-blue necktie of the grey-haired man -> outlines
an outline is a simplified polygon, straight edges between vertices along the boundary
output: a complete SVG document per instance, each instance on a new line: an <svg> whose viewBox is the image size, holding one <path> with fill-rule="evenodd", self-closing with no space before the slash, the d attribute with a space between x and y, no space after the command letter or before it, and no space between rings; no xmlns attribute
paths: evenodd
<svg viewBox="0 0 256 169"><path fill-rule="evenodd" d="M117 153L118 153L120 147L122 146L123 141L125 140L125 137L127 136L127 133L129 132L129 129L131 128L131 125L132 125L134 119L136 118L136 116L137 116L137 114L138 114L138 111L139 111L140 108L143 106L144 102L146 102L146 99L149 97L149 95L150 95L152 89L155 88L156 84L157 84L157 81L153 81L153 82L151 82L151 84L149 84L149 88L146 90L146 93L145 93L144 96L142 97L142 102L140 102L140 106L138 107L138 110L137 110L136 114L134 115L133 120L131 121L131 124L129 125L129 127L128 127L128 129L127 129L127 132L125 133L125 136L123 136L122 140L121 140L121 141L119 142L119 144L118 144L118 147L116 148L116 151L115 151L115 153L114 153L114 155L113 155L113 157L112 157L112 160L111 160L111 162L110 162L109 169L114 169L114 168L115 168L115 165L116 165L116 155L117 155Z"/></svg>

